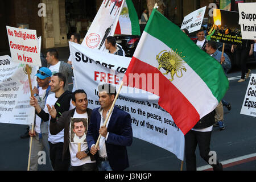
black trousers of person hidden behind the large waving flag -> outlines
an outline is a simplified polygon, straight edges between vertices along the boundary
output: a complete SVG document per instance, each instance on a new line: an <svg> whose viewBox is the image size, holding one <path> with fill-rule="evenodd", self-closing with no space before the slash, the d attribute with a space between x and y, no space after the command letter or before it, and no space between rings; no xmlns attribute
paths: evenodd
<svg viewBox="0 0 256 182"><path fill-rule="evenodd" d="M199 146L200 156L209 164L210 151L210 136L212 131L200 132L190 130L185 135L185 158L187 171L196 171L196 147ZM216 159L216 164L210 164L214 171L222 171L222 165L218 163Z"/></svg>

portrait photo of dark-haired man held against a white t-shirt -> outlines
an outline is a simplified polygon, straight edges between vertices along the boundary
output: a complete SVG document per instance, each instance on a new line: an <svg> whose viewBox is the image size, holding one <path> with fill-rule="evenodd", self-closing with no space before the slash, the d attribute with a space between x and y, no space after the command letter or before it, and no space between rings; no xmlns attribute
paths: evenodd
<svg viewBox="0 0 256 182"><path fill-rule="evenodd" d="M88 131L87 118L71 118L71 143L86 143L86 134Z"/></svg>

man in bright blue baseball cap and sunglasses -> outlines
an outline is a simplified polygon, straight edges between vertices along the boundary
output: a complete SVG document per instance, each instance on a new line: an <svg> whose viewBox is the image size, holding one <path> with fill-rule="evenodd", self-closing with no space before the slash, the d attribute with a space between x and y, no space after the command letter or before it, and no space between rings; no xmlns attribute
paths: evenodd
<svg viewBox="0 0 256 182"><path fill-rule="evenodd" d="M34 96L38 100L38 104L41 108L44 108L47 100L47 96L51 93L51 86L49 82L51 81L52 72L46 67L42 67L36 73L36 81L38 82L38 88L34 88ZM29 135L32 138L32 148L31 148L31 159L30 159L30 171L38 170L38 159L39 151L43 149L47 152L49 158L49 143L48 143L48 127L49 121L44 122L38 115L36 115L34 122L34 131L29 131ZM50 160L49 160L50 161Z"/></svg>

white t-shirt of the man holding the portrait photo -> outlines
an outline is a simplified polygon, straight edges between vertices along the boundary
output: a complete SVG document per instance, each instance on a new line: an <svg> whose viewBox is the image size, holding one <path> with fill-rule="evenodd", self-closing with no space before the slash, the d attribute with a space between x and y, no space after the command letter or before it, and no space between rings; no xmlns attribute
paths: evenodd
<svg viewBox="0 0 256 182"><path fill-rule="evenodd" d="M88 114L78 114L76 111L73 115L73 118L88 118ZM80 160L76 157L76 154L78 152L78 144L77 143L71 143L71 126L69 126L69 137L68 137L68 144L69 144L69 152L71 156L71 166L82 166L86 163L95 163L96 161L90 160L90 156L86 156L84 159ZM81 143L81 151L85 151L88 149L87 143Z"/></svg>

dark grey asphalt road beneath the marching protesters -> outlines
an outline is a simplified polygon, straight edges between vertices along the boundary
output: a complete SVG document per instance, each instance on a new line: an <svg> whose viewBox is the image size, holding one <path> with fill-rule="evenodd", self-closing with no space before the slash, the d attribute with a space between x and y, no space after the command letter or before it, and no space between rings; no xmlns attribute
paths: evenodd
<svg viewBox="0 0 256 182"><path fill-rule="evenodd" d="M65 48L61 48L65 51ZM61 57L65 59L66 55ZM256 64L250 64L251 73L256 73ZM240 76L240 69L233 69L228 77ZM224 123L226 129L218 131L213 128L210 150L216 151L217 159L224 162L229 159L256 153L256 122L255 118L240 114L243 98L249 79L245 82L229 82L229 90L224 99L231 103L232 110L224 107ZM205 103L207 104L207 103ZM28 163L29 139L20 139L26 131L25 125L10 125L0 123L0 170L26 171ZM130 167L127 171L179 171L181 161L174 154L158 146L134 138L131 147L127 147ZM207 163L200 158L196 150L197 167ZM183 169L185 170L185 162ZM40 165L39 170L51 170L49 162ZM255 171L256 160L232 165L224 168L225 171Z"/></svg>

